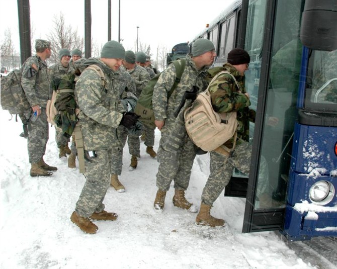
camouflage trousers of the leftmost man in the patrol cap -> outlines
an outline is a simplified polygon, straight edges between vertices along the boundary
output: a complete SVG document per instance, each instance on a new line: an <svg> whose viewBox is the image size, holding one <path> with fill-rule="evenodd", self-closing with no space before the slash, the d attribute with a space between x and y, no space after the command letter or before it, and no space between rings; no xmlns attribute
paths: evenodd
<svg viewBox="0 0 337 269"><path fill-rule="evenodd" d="M31 115L33 114L33 111ZM28 156L30 163L37 163L46 152L46 145L49 138L49 127L47 122L46 109L41 108L41 114L35 122L28 123Z"/></svg>

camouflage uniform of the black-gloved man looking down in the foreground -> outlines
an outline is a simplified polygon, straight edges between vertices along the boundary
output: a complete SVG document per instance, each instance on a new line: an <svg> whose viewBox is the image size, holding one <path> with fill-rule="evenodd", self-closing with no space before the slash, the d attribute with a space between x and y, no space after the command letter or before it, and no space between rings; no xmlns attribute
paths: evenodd
<svg viewBox="0 0 337 269"><path fill-rule="evenodd" d="M96 157L85 155L86 183L76 203L75 211L82 217L104 209L102 203L110 186L112 149L120 146L117 127L122 120L120 77L104 62L88 59L98 64L105 74L105 87L95 70L84 70L75 86L75 98L81 111L78 114L85 151L95 151Z"/></svg>

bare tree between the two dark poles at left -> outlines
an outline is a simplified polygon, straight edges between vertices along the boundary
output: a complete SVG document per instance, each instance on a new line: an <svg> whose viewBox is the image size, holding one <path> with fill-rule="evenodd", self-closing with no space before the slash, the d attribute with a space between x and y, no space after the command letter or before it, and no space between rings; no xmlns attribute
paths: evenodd
<svg viewBox="0 0 337 269"><path fill-rule="evenodd" d="M64 16L60 13L59 17L54 16L54 29L48 35L48 39L51 42L51 49L53 51L49 62L57 63L58 51L62 48L69 49L74 48L82 51L83 38L79 37L77 30L73 30L71 25L66 25Z"/></svg>

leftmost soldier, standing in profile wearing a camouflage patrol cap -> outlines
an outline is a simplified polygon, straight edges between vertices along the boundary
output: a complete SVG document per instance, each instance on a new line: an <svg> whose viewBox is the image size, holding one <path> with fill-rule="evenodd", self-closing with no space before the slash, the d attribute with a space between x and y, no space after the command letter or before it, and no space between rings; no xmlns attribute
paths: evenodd
<svg viewBox="0 0 337 269"><path fill-rule="evenodd" d="M28 156L31 163L31 176L50 176L57 168L46 164L43 155L49 138L46 106L51 99L48 67L45 62L51 55L50 42L37 39L36 55L29 57L23 64L21 85L32 107L31 115L36 113L37 119L29 122Z"/></svg>

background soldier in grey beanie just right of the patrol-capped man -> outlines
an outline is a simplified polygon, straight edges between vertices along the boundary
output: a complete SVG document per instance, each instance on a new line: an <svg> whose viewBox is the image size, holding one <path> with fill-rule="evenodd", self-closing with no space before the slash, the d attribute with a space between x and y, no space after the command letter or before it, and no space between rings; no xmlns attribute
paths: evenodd
<svg viewBox="0 0 337 269"><path fill-rule="evenodd" d="M58 52L60 61L49 67L49 77L52 85L52 89L56 89L58 80L65 74L70 73L72 70L69 65L70 51L68 49L60 49ZM68 147L69 139L66 138L60 129L55 126L55 140L57 147L59 148L58 157L67 157L66 154L70 154L71 150Z"/></svg>

